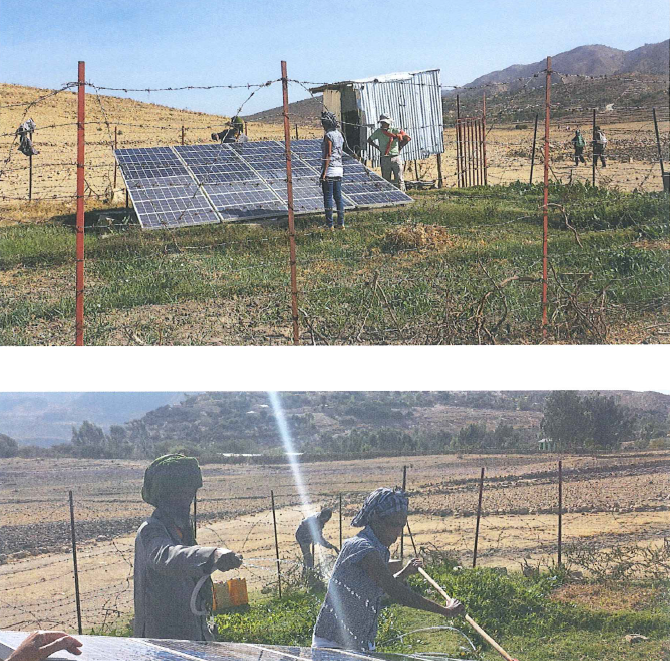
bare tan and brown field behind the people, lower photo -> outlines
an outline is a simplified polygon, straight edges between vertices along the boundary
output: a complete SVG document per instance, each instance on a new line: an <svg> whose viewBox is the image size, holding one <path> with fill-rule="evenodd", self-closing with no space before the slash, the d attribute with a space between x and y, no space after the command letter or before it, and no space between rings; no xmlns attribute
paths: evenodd
<svg viewBox="0 0 670 661"><path fill-rule="evenodd" d="M313 509L335 508L325 535L339 545L365 494L399 484L408 466L414 543L456 552L471 562L478 481L486 469L479 540L482 565L519 568L556 553L557 472L554 455L434 456L327 462L302 466ZM670 453L563 457L565 543L601 547L637 541L658 545L668 533ZM84 626L112 625L132 610L133 535L150 507L139 497L146 462L3 460L0 469L0 628L76 622L68 490L74 494ZM270 490L277 504L282 571L296 565L294 532L302 519L288 466L205 466L198 541L241 552L239 575L252 593L276 580ZM410 540L404 540L405 554ZM395 549L396 554L398 549ZM324 558L327 561L327 558ZM225 579L228 575L217 575Z"/></svg>

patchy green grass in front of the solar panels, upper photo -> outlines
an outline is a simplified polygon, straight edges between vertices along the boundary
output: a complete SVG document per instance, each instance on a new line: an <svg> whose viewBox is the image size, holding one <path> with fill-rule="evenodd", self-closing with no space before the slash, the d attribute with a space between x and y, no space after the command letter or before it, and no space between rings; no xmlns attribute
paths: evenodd
<svg viewBox="0 0 670 661"><path fill-rule="evenodd" d="M519 183L420 191L413 205L349 213L336 233L321 229L320 215L299 217L303 341L541 341L541 193ZM602 343L631 319L665 310L667 195L581 185L550 193L550 341ZM440 240L403 243L402 232L417 227ZM72 314L70 280L39 300L30 292L31 274L74 273L75 235L62 224L11 227L0 244L0 269L21 275L3 297L0 342L30 343L27 321ZM234 314L256 315L249 325L261 328L284 318L288 248L281 223L87 233L85 314L107 315L95 341L105 343L117 312L150 305L233 301Z"/></svg>

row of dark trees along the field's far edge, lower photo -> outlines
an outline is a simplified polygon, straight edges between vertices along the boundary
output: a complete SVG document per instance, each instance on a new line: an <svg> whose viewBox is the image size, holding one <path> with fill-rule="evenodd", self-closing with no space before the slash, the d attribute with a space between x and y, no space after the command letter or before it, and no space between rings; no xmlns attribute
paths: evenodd
<svg viewBox="0 0 670 661"><path fill-rule="evenodd" d="M422 429L419 423L414 424L412 406L423 404L422 393L404 393L401 403L393 400L390 395L379 398L367 398L367 401L356 399L351 393L339 394L336 402L329 399L331 408L337 408L338 414L349 416L355 420L380 423L378 428L353 426L347 433L319 432L315 416L311 412L289 414L289 425L297 439L297 449L306 455L318 457L327 455L379 455L390 454L441 454L449 452L537 450L537 431L528 428L516 428L511 424L499 422L494 429L485 424L473 422L463 426L458 432L447 430ZM453 399L447 393L423 393L431 395L433 404L446 403ZM464 394L465 395L465 394ZM491 404L498 407L510 406L503 402L495 393L468 393L469 404L486 408ZM543 405L543 419L540 430L542 434L554 442L557 451L612 451L621 448L623 443L636 441L638 448L645 448L654 439L667 437L670 424L666 418L658 415L644 416L634 414L619 404L615 397L600 394L580 395L575 391L554 391L543 393L539 401ZM288 410L305 405L310 399L309 393L292 394ZM465 396L461 401L465 403ZM389 408L393 401L395 408ZM460 403L460 402L459 402ZM536 406L538 399L524 397L523 404ZM254 428L258 434L243 435L230 433L223 436L217 433L220 421L216 426L203 427L199 424L200 413L190 402L184 409L180 407L163 407L170 409L166 418L162 409L152 411L142 420L133 420L125 425L112 425L108 432L100 426L84 421L73 426L72 438L69 443L61 443L51 448L21 447L9 436L0 434L0 457L12 457L19 454L66 456L90 459L146 459L160 456L168 452L182 451L199 456L202 461L244 461L243 455L261 455L268 458L278 457L283 448L277 442L268 444L268 438L276 439L274 418L268 408L258 412ZM519 405L519 402L516 403ZM234 420L240 420L241 412L249 406L248 400L236 402ZM216 409L210 416L216 417ZM331 411L330 415L334 415ZM225 417L225 416L224 416ZM178 429L169 431L174 425ZM394 427L393 424L410 422L409 428ZM241 423L238 423L241 424ZM248 423L247 423L248 426ZM237 425L236 425L237 427ZM167 430L167 431L166 431ZM663 443L657 446L663 446ZM654 447L654 445L652 445ZM232 456L224 456L232 455Z"/></svg>

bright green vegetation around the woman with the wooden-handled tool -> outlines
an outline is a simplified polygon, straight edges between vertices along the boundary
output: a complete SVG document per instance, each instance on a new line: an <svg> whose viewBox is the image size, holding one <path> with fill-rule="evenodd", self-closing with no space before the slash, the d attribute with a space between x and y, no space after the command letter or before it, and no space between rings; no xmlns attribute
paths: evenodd
<svg viewBox="0 0 670 661"><path fill-rule="evenodd" d="M667 604L650 604L642 610L606 612L552 598L565 572L548 572L527 578L492 569L454 571L451 564L433 564L428 573L447 593L462 600L468 613L512 656L524 661L557 659L581 661L642 661L660 658L670 631ZM428 598L438 597L420 577L413 589ZM632 586L621 586L621 589ZM309 646L312 629L323 601L323 592L290 589L282 599L270 598L217 616L219 639L274 645ZM453 626L445 630L417 631ZM417 631L416 633L411 633ZM630 633L648 641L632 645ZM409 634L409 635L405 635ZM465 636L475 644L469 646ZM380 614L378 651L403 654L439 651L454 658L499 658L462 618L445 620L437 615L397 605ZM656 655L656 656L655 656Z"/></svg>

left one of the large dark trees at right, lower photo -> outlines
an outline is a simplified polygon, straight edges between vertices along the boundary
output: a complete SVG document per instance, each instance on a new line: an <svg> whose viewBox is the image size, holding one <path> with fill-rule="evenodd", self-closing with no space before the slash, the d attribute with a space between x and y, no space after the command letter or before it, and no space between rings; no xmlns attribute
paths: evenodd
<svg viewBox="0 0 670 661"><path fill-rule="evenodd" d="M540 427L559 450L584 447L588 421L579 395L573 390L552 392L545 401Z"/></svg>

